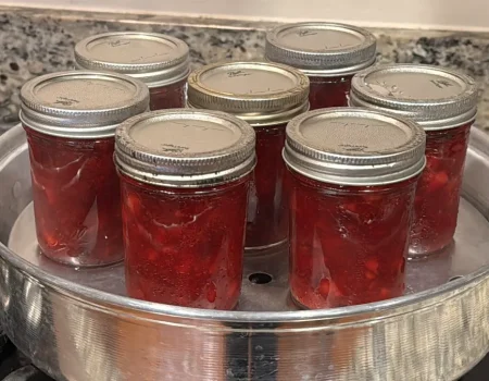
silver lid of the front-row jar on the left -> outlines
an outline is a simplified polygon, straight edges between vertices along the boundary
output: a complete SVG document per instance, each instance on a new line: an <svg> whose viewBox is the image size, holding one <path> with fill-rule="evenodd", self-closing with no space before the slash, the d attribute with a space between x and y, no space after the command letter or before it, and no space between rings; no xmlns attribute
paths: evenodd
<svg viewBox="0 0 489 381"><path fill-rule="evenodd" d="M224 112L170 109L124 122L115 134L115 163L143 183L200 187L224 184L255 165L255 134Z"/></svg>

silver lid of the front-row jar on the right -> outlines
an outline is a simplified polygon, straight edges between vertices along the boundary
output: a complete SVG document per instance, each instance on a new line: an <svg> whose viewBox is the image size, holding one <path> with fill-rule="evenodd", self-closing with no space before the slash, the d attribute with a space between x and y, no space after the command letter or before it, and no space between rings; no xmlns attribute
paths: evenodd
<svg viewBox="0 0 489 381"><path fill-rule="evenodd" d="M287 125L286 163L326 183L398 183L425 167L426 135L415 122L385 112L333 108L306 112Z"/></svg>

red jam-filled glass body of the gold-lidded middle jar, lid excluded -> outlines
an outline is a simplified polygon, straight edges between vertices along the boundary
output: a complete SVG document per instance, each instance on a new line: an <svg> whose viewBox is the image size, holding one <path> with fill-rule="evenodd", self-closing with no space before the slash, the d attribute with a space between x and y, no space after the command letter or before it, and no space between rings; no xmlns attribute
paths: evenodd
<svg viewBox="0 0 489 381"><path fill-rule="evenodd" d="M285 124L255 128L256 167L250 184L247 249L264 249L288 236L286 167L281 158Z"/></svg>

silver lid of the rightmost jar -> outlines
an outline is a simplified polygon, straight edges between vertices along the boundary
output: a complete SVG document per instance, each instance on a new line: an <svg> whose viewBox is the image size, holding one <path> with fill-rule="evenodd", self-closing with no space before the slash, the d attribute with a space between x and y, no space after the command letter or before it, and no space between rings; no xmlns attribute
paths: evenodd
<svg viewBox="0 0 489 381"><path fill-rule="evenodd" d="M353 77L350 105L413 119L426 131L447 130L475 119L477 86L469 76L438 66L376 66Z"/></svg>

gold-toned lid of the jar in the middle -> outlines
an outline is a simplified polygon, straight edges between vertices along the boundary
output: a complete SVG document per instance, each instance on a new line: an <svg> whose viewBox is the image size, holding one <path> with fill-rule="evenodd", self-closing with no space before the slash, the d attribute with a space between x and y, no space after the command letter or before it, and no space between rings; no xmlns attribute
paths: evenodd
<svg viewBox="0 0 489 381"><path fill-rule="evenodd" d="M253 126L280 124L309 109L308 77L269 62L216 63L188 77L188 106L231 113Z"/></svg>

